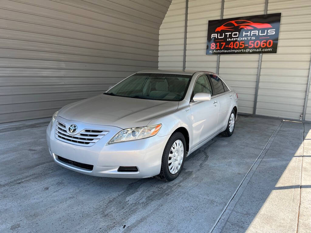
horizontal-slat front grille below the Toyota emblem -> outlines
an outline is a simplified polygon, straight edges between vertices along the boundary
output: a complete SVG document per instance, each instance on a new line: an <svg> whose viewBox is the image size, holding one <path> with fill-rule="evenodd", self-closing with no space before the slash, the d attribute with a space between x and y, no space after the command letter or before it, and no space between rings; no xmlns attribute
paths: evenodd
<svg viewBox="0 0 311 233"><path fill-rule="evenodd" d="M82 145L82 146L92 146L104 135L106 135L108 130L91 130L84 129L76 135L70 135L67 132L66 125L57 121L55 126L55 137L61 141L68 142L71 144Z"/></svg>

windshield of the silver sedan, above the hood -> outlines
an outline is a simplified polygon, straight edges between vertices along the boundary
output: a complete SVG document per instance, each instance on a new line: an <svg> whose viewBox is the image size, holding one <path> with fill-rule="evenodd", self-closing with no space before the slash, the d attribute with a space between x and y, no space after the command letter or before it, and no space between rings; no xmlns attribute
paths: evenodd
<svg viewBox="0 0 311 233"><path fill-rule="evenodd" d="M192 75L139 73L115 85L106 95L180 101L186 95Z"/></svg>

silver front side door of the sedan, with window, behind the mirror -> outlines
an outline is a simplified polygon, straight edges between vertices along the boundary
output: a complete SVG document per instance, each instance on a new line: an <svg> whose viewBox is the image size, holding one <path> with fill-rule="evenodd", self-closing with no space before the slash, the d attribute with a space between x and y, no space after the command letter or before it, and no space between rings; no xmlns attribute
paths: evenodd
<svg viewBox="0 0 311 233"><path fill-rule="evenodd" d="M207 75L200 75L193 88L192 97L197 93L212 93L212 88ZM192 115L193 146L197 146L216 132L218 120L218 103L210 101L190 102Z"/></svg>

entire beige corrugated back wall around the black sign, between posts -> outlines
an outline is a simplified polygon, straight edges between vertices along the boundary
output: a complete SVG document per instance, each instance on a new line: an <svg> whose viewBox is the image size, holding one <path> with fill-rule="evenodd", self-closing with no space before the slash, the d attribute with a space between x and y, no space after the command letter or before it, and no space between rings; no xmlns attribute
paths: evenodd
<svg viewBox="0 0 311 233"><path fill-rule="evenodd" d="M265 0L225 0L224 18L264 14L264 8ZM256 114L299 119L311 57L311 2L269 0L268 13L277 12L282 13L278 51L262 56ZM221 0L189 0L186 71L216 71L217 55L206 55L207 22L220 13ZM185 1L173 0L160 27L160 69L182 70L184 19ZM239 112L253 113L258 62L259 54L220 56L219 74L238 92Z"/></svg>

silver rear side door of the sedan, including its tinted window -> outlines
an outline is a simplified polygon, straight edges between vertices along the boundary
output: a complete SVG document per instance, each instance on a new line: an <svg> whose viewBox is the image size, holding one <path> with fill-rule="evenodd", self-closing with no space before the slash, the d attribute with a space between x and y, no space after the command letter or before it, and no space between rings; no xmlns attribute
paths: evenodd
<svg viewBox="0 0 311 233"><path fill-rule="evenodd" d="M213 103L218 104L218 123L216 131L227 125L231 106L230 91L217 75L209 75L213 87Z"/></svg>

